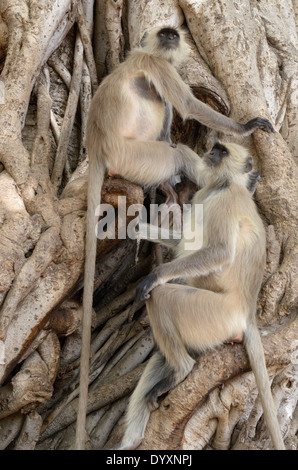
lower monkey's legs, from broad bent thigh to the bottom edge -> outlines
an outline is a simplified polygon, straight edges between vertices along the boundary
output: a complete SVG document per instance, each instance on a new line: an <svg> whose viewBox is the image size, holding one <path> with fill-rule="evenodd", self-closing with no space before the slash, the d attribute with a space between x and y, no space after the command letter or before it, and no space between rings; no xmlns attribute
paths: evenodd
<svg viewBox="0 0 298 470"><path fill-rule="evenodd" d="M153 290L147 308L161 352L152 356L132 394L120 448L139 445L150 416L150 405L192 370L195 361L187 347L206 349L244 329L245 320L241 321L239 305L236 307L228 296L179 284L166 284Z"/></svg>

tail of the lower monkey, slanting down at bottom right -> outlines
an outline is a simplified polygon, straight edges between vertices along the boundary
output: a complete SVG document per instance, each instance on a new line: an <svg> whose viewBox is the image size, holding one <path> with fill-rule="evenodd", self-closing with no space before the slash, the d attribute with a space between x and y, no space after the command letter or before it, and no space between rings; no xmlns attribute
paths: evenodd
<svg viewBox="0 0 298 470"><path fill-rule="evenodd" d="M273 401L268 372L266 368L263 345L256 324L250 324L245 331L245 347L264 410L265 421L276 450L284 450L280 426L277 419L276 406Z"/></svg>

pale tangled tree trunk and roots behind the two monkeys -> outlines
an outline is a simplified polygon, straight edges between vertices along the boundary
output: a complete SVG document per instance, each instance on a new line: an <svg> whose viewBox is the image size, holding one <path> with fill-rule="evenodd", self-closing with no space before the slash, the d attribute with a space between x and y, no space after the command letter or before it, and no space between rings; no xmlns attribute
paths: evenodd
<svg viewBox="0 0 298 470"><path fill-rule="evenodd" d="M267 117L248 146L261 173L255 200L267 231L258 304L272 391L288 449L297 448L297 0L1 0L0 448L71 449L78 404L86 211L86 116L97 81L156 25L183 25L180 73L237 121ZM209 130L176 117L173 139L202 154ZM107 179L104 201L143 203L142 188ZM98 243L88 448L121 438L122 417L154 348L135 286L148 243ZM152 413L140 449L267 449L241 344L197 360Z"/></svg>

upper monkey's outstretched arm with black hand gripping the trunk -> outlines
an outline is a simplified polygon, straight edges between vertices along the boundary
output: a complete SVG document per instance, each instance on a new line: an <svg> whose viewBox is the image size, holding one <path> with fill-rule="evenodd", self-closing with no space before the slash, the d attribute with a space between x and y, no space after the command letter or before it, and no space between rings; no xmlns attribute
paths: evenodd
<svg viewBox="0 0 298 470"><path fill-rule="evenodd" d="M172 103L183 119L196 119L207 127L233 135L247 136L258 128L266 132L274 131L267 119L257 117L246 124L240 124L218 113L193 95L190 87L183 82L171 64L159 58L153 60L149 70L148 66L144 67L147 79L154 84L160 96Z"/></svg>

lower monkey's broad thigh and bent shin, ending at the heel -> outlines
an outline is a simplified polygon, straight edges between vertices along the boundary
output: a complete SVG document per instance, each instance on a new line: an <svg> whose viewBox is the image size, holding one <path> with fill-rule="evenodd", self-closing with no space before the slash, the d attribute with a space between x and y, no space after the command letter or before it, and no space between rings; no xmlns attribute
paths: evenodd
<svg viewBox="0 0 298 470"><path fill-rule="evenodd" d="M181 380L195 361L187 349L203 351L246 329L246 314L235 294L163 284L146 302L155 340Z"/></svg>

